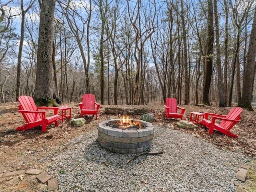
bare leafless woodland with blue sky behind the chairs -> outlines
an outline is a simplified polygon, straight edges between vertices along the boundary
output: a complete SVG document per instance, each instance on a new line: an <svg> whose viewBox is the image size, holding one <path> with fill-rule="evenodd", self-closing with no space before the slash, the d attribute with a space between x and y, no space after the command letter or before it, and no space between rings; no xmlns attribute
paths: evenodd
<svg viewBox="0 0 256 192"><path fill-rule="evenodd" d="M44 94L62 102L92 93L110 105L174 97L185 105L253 110L255 5L254 0L0 0L0 103L38 96L44 87ZM45 43L48 30L53 36Z"/></svg>

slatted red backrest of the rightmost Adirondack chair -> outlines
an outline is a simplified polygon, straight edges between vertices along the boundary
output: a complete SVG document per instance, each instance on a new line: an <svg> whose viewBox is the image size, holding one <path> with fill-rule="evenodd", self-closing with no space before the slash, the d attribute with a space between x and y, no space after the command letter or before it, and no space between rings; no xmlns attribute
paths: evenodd
<svg viewBox="0 0 256 192"><path fill-rule="evenodd" d="M226 115L226 119L232 119L232 120L240 120L240 114L243 112L243 109L240 107L234 107L230 110L230 112ZM230 121L225 121L223 120L220 123L220 126L225 128L226 130L230 130L236 123L235 122L230 122Z"/></svg>

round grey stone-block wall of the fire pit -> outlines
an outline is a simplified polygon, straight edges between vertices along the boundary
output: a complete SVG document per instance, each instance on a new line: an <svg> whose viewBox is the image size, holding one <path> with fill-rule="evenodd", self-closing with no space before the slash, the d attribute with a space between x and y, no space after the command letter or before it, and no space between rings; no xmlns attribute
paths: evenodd
<svg viewBox="0 0 256 192"><path fill-rule="evenodd" d="M141 129L112 128L111 125L118 124L120 119L105 120L99 124L98 142L100 146L114 153L134 154L151 148L151 140L154 136L154 126L146 121L141 122Z"/></svg>

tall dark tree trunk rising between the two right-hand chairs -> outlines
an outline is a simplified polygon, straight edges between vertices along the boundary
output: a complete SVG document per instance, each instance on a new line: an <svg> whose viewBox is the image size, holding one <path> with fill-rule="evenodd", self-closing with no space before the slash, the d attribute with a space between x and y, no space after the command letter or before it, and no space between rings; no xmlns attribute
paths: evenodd
<svg viewBox="0 0 256 192"><path fill-rule="evenodd" d="M207 43L206 43L206 56L204 66L204 86L203 86L203 104L210 105L209 90L212 78L212 54L214 43L214 28L213 28L213 11L212 0L208 0L208 18L207 18Z"/></svg>

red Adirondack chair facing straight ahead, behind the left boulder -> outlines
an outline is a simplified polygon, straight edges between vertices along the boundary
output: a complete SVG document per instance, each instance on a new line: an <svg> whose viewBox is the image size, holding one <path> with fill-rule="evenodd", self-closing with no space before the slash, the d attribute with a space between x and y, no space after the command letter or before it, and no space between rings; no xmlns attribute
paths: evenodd
<svg viewBox="0 0 256 192"><path fill-rule="evenodd" d="M82 102L79 103L81 110L81 117L83 115L96 115L98 118L98 110L100 109L100 104L95 102L95 96L93 94L84 94Z"/></svg>

